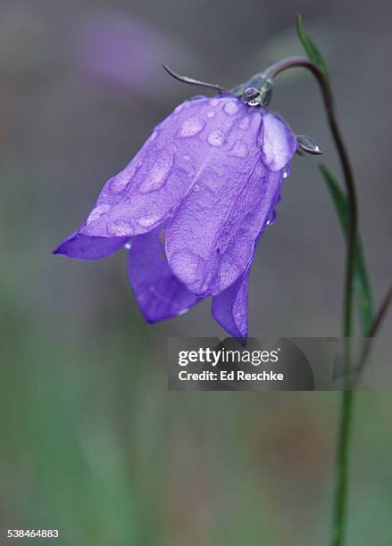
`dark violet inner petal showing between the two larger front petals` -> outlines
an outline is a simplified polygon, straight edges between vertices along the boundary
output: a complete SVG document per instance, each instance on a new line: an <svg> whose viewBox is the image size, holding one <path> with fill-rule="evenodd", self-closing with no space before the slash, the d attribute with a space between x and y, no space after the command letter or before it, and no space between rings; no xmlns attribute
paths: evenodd
<svg viewBox="0 0 392 546"><path fill-rule="evenodd" d="M129 283L148 322L176 317L200 301L171 272L163 237L164 228L156 227L136 236L129 250Z"/></svg>

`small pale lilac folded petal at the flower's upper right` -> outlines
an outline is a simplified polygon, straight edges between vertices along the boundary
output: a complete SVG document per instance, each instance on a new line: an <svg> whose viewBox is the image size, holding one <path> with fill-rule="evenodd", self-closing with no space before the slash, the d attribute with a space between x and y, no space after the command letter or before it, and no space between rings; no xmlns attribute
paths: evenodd
<svg viewBox="0 0 392 546"><path fill-rule="evenodd" d="M263 117L263 161L270 170L280 170L296 152L296 136L286 121L268 112Z"/></svg>

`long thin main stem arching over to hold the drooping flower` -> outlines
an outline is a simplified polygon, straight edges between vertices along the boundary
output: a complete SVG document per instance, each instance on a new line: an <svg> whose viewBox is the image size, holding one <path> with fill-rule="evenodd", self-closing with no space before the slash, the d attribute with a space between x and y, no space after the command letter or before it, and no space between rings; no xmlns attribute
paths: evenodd
<svg viewBox="0 0 392 546"><path fill-rule="evenodd" d="M306 57L287 57L274 62L263 72L265 79L273 79L283 70L303 67L310 70L321 87L321 94L324 100L329 128L332 133L338 156L341 162L347 193L348 202L348 233L346 252L346 274L345 274L345 301L343 314L343 336L346 338L345 371L346 380L351 369L351 341L353 335L353 302L354 302L354 269L356 264L356 236L357 236L357 199L354 185L354 175L351 169L346 146L338 128L338 120L329 82L322 71ZM342 398L342 406L338 430L338 453L337 453L337 476L334 493L334 512L332 528L332 546L344 546L346 539L346 505L348 486L349 447L353 421L354 391L349 385L345 385ZM347 388L348 387L348 388Z"/></svg>

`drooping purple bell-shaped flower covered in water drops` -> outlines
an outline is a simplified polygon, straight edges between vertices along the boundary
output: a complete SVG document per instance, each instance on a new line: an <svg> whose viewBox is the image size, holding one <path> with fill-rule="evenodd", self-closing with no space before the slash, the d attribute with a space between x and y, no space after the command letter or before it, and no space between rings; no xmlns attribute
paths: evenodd
<svg viewBox="0 0 392 546"><path fill-rule="evenodd" d="M278 115L235 96L182 103L54 252L96 260L130 245L129 282L148 321L212 296L217 322L245 338L254 250L296 145Z"/></svg>

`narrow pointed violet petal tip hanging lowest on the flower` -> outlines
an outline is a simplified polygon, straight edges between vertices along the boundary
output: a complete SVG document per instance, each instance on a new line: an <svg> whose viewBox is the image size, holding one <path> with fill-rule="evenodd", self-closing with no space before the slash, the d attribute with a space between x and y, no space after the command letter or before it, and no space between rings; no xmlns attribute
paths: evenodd
<svg viewBox="0 0 392 546"><path fill-rule="evenodd" d="M213 318L229 335L239 339L247 337L247 301L249 268L221 294L213 297Z"/></svg>

